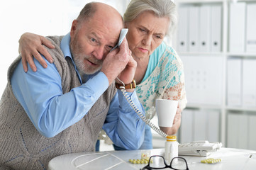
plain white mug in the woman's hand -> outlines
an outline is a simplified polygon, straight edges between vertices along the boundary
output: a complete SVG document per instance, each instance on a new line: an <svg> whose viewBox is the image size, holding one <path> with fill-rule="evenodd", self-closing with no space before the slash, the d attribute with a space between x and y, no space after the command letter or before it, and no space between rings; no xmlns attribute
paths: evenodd
<svg viewBox="0 0 256 170"><path fill-rule="evenodd" d="M172 127L177 112L179 101L157 98L155 108L157 111L158 125L161 127Z"/></svg>

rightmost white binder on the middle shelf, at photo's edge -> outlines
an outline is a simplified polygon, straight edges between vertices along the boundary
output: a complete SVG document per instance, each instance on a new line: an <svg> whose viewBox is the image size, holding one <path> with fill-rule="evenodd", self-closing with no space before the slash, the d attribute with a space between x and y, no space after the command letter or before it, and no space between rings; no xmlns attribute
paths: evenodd
<svg viewBox="0 0 256 170"><path fill-rule="evenodd" d="M243 60L243 106L256 107L256 60Z"/></svg>

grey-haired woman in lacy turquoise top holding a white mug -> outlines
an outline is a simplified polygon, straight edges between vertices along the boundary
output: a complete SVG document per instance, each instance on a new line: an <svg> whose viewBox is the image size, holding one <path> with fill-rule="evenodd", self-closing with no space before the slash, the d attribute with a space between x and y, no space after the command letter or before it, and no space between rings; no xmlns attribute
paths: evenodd
<svg viewBox="0 0 256 170"><path fill-rule="evenodd" d="M167 135L174 135L181 124L181 112L187 104L184 90L183 64L177 52L163 40L172 35L177 24L175 4L170 0L131 0L123 16L126 38L132 56L138 66L135 72L136 92L143 104L146 117L155 115L155 99L165 98L179 101L172 128L160 127ZM36 70L34 56L43 67L46 61L39 53L52 63L52 57L42 44L52 47L47 39L40 35L25 33L19 40L24 70ZM122 149L114 145L115 149ZM145 140L140 149L152 149L150 127L145 128Z"/></svg>

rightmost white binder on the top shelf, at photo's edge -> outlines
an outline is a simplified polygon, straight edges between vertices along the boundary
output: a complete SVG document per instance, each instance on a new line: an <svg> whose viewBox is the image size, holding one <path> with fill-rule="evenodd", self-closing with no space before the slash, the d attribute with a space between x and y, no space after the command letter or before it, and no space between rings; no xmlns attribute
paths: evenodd
<svg viewBox="0 0 256 170"><path fill-rule="evenodd" d="M256 4L247 4L246 52L256 52Z"/></svg>

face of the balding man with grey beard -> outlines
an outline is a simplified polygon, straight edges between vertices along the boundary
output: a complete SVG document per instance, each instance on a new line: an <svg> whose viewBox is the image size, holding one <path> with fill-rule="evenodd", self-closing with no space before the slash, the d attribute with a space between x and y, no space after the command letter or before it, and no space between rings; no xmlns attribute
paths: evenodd
<svg viewBox="0 0 256 170"><path fill-rule="evenodd" d="M106 20L96 12L82 23L73 21L70 49L77 69L82 74L99 71L106 55L118 41L122 23Z"/></svg>

